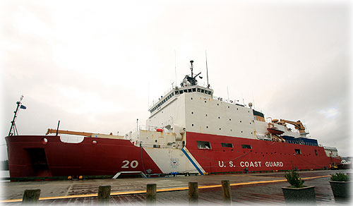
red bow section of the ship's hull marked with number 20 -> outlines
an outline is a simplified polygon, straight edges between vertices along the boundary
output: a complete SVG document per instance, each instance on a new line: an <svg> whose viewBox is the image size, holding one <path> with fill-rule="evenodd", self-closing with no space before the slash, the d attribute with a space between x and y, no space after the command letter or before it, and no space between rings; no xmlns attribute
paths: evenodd
<svg viewBox="0 0 353 206"><path fill-rule="evenodd" d="M63 143L59 136L18 135L6 137L6 142L10 177L114 175L148 169L162 173L145 150L129 140L84 138L81 143Z"/></svg>

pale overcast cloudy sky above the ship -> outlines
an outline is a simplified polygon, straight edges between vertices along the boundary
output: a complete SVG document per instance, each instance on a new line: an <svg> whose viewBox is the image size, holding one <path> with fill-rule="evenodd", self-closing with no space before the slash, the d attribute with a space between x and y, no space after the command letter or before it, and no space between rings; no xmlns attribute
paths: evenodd
<svg viewBox="0 0 353 206"><path fill-rule="evenodd" d="M127 133L191 59L205 77L207 51L216 96L304 121L311 138L352 155L349 1L1 1L0 9L2 137L20 95L20 135L44 135L59 120L63 130Z"/></svg>

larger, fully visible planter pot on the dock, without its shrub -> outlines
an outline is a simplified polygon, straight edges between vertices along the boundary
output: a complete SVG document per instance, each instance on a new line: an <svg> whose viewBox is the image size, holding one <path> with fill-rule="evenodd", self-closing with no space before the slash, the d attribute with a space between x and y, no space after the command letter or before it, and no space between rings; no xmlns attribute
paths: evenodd
<svg viewBox="0 0 353 206"><path fill-rule="evenodd" d="M287 204L316 204L315 186L304 188L282 187Z"/></svg>

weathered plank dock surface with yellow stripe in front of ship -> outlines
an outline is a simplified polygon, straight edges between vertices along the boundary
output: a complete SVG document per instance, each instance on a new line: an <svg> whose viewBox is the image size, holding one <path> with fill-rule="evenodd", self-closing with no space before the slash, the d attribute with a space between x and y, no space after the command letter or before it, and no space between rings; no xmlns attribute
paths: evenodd
<svg viewBox="0 0 353 206"><path fill-rule="evenodd" d="M330 174L352 172L349 170L299 171L305 185L316 186L318 205L349 204L338 200L328 183ZM145 188L148 183L157 184L157 204L188 205L188 183L198 182L200 205L222 205L220 182L229 180L232 186L232 202L236 205L271 204L285 205L282 186L288 186L283 172L255 174L220 174L208 176L176 176L163 178L119 178L76 181L26 181L3 182L1 202L20 205L23 191L41 189L39 205L95 205L98 186L112 186L109 205L145 205ZM158 192L159 191L159 192ZM43 199L46 200L43 200ZM349 201L349 200L348 200Z"/></svg>

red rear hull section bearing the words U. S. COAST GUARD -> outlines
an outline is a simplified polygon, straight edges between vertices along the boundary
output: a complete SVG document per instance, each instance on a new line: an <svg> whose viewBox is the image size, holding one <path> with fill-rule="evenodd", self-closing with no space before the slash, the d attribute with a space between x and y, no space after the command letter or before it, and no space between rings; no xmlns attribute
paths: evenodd
<svg viewBox="0 0 353 206"><path fill-rule="evenodd" d="M196 141L208 141L212 150L198 149ZM221 147L232 143L233 147ZM242 145L251 145L243 148ZM269 171L289 169L329 169L330 162L340 159L327 157L323 147L277 143L248 138L188 133L188 150L207 172ZM300 150L301 154L296 154Z"/></svg>

